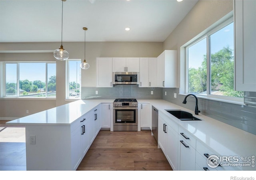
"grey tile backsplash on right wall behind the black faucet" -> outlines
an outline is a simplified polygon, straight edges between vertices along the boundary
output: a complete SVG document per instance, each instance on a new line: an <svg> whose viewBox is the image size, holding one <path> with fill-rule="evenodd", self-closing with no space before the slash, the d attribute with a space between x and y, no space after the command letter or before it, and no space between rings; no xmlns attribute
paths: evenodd
<svg viewBox="0 0 256 180"><path fill-rule="evenodd" d="M177 98L174 98L174 93L177 94ZM164 100L195 110L195 98L189 96L187 104L182 104L185 96L179 95L178 88L163 88L162 94ZM245 92L244 99L246 106L198 98L198 109L205 116L256 135L256 92Z"/></svg>

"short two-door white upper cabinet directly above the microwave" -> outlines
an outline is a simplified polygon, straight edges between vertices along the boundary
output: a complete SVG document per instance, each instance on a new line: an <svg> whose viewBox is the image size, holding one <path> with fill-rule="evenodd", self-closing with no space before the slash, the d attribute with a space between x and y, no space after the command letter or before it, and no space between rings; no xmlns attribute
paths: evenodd
<svg viewBox="0 0 256 180"><path fill-rule="evenodd" d="M140 58L113 58L113 72L140 72Z"/></svg>

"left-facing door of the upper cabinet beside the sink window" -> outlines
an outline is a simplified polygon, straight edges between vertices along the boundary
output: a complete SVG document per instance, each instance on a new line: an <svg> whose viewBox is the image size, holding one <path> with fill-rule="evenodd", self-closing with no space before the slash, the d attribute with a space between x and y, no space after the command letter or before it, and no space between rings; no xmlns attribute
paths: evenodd
<svg viewBox="0 0 256 180"><path fill-rule="evenodd" d="M164 52L157 57L157 87L164 87Z"/></svg>

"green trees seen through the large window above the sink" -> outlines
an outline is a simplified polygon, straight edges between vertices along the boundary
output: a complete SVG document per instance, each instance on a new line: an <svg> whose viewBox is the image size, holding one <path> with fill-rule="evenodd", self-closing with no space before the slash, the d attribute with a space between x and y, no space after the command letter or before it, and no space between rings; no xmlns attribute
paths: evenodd
<svg viewBox="0 0 256 180"><path fill-rule="evenodd" d="M202 93L207 89L207 56L198 69L189 68L189 92ZM234 90L234 56L229 46L211 54L211 89L220 86L224 96L244 97L243 91Z"/></svg>

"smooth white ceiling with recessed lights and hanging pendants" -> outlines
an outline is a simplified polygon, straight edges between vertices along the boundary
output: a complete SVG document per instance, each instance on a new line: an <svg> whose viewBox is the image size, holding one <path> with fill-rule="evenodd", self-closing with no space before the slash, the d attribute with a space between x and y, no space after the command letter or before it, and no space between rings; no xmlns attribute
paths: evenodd
<svg viewBox="0 0 256 180"><path fill-rule="evenodd" d="M67 0L62 40L164 42L196 2ZM61 20L61 0L0 0L0 42L60 42Z"/></svg>

